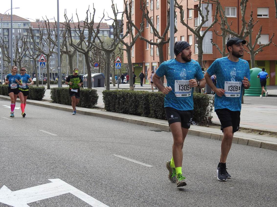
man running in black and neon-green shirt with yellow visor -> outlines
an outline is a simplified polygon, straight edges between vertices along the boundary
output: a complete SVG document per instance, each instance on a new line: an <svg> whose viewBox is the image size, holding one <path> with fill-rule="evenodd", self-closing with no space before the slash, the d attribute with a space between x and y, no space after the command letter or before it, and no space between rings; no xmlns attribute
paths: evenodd
<svg viewBox="0 0 277 207"><path fill-rule="evenodd" d="M80 100L80 87L83 85L83 80L80 75L78 75L79 69L74 68L73 74L66 78L65 84L69 85L69 95L71 97L71 105L73 108L72 115L76 115L76 105L78 105Z"/></svg>

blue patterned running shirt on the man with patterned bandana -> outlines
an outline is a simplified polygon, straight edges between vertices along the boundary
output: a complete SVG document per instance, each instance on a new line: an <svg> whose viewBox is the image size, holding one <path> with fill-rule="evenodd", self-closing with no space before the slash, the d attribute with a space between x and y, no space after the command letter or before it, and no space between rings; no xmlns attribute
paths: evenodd
<svg viewBox="0 0 277 207"><path fill-rule="evenodd" d="M188 97L176 97L175 96L175 82L179 80L190 80L190 79L203 79L203 73L198 62L191 60L191 62L180 63L176 59L171 59L161 63L157 69L156 74L159 77L165 75L167 86L172 88L165 96L165 107L172 107L177 110L187 111L193 110L193 90L191 89L191 95ZM187 86L186 86L187 87ZM177 91L177 90L176 90Z"/></svg>

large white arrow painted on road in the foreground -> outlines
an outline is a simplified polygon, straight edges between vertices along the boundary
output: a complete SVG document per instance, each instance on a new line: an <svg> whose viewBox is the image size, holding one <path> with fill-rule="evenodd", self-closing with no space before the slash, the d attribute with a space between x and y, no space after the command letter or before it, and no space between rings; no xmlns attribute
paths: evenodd
<svg viewBox="0 0 277 207"><path fill-rule="evenodd" d="M27 203L71 193L93 207L109 207L61 179L48 180L51 183L16 191L11 191L3 185L0 189L0 202L14 207L30 207Z"/></svg>

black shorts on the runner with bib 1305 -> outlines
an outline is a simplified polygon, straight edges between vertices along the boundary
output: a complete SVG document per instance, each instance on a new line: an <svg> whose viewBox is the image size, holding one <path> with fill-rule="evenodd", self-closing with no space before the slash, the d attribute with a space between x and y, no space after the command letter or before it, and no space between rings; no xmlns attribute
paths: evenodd
<svg viewBox="0 0 277 207"><path fill-rule="evenodd" d="M165 114L169 126L172 123L181 122L183 128L190 128L193 118L193 110L180 111L175 108L165 107Z"/></svg>

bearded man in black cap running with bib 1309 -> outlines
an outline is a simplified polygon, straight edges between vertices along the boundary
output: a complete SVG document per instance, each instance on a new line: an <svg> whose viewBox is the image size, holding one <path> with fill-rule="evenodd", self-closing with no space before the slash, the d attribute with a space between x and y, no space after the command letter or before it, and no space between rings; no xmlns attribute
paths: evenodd
<svg viewBox="0 0 277 207"><path fill-rule="evenodd" d="M214 109L221 123L223 139L221 143L220 161L217 166L217 179L226 181L231 178L226 171L226 159L230 151L234 132L240 126L240 110L242 87L250 87L250 70L243 56L245 40L230 38L227 41L228 57L216 59L205 73L207 84L216 93ZM212 83L211 76L216 74L216 86Z"/></svg>

